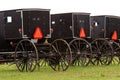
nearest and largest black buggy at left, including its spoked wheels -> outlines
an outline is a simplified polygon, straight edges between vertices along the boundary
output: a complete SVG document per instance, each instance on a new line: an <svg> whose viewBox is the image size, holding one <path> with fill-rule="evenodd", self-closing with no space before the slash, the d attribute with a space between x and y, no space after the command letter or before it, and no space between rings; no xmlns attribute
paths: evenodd
<svg viewBox="0 0 120 80"><path fill-rule="evenodd" d="M50 21L49 9L1 11L0 63L14 62L21 72L34 71L44 59L55 71L67 70L70 47L64 40L46 41L51 39Z"/></svg>

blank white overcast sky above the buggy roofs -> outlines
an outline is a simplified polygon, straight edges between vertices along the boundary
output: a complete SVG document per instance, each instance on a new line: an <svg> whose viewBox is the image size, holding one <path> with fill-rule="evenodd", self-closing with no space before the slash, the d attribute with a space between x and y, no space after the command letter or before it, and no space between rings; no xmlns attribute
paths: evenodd
<svg viewBox="0 0 120 80"><path fill-rule="evenodd" d="M51 13L87 12L120 16L120 0L0 0L0 10L46 8Z"/></svg>

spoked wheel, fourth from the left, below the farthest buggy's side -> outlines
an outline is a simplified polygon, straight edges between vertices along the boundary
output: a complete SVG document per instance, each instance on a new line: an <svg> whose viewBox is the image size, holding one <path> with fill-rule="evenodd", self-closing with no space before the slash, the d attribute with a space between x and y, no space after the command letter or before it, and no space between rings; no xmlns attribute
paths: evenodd
<svg viewBox="0 0 120 80"><path fill-rule="evenodd" d="M113 48L110 43L102 38L96 39L91 43L92 63L94 65L109 65L113 58Z"/></svg>

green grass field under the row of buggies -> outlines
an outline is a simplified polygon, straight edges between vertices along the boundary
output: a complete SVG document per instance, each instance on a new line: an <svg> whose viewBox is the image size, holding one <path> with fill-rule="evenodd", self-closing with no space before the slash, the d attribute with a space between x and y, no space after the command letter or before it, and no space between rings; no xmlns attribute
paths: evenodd
<svg viewBox="0 0 120 80"><path fill-rule="evenodd" d="M15 65L0 65L0 80L120 80L120 65L70 67L65 72L50 67L19 72Z"/></svg>

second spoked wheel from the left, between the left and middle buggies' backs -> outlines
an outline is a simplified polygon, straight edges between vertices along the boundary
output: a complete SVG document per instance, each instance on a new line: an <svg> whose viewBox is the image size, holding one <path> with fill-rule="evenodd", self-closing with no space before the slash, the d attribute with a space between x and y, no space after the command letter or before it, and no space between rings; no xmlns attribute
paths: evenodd
<svg viewBox="0 0 120 80"><path fill-rule="evenodd" d="M56 48L56 56L52 58L54 64L50 65L55 71L65 71L71 62L71 49L69 44L63 39L56 39L52 42Z"/></svg>

